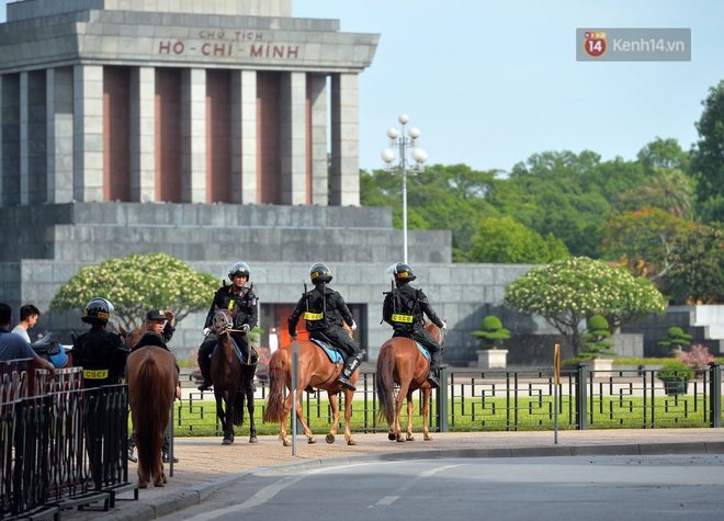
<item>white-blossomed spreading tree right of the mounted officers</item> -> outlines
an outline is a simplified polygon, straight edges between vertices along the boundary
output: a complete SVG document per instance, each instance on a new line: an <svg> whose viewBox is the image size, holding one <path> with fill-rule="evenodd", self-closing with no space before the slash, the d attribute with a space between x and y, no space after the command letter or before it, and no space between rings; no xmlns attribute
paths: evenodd
<svg viewBox="0 0 724 521"><path fill-rule="evenodd" d="M504 302L520 313L542 316L566 338L575 356L581 352L581 325L588 317L602 315L613 332L666 308L648 280L587 257L531 269L506 287Z"/></svg>

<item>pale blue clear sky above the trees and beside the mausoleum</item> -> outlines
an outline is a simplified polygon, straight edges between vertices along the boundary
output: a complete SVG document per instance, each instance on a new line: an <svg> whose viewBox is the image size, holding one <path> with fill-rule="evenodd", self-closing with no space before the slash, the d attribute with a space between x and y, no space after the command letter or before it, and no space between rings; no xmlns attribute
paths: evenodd
<svg viewBox="0 0 724 521"><path fill-rule="evenodd" d="M0 21L4 4L0 0ZM699 136L724 79L720 0L293 0L294 16L380 34L360 76L360 168L383 168L387 129L420 129L428 163L501 170L534 154L634 160L648 143ZM576 61L576 29L686 27L691 61Z"/></svg>

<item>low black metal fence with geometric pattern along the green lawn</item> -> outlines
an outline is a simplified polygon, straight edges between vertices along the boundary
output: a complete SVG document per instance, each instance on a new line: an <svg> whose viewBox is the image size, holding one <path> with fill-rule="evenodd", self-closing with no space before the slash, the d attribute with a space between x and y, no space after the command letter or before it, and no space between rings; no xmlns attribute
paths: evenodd
<svg viewBox="0 0 724 521"><path fill-rule="evenodd" d="M433 392L431 430L551 430L658 429L722 426L722 371L712 363L700 378L690 381L686 394L667 394L657 370L589 371L587 365L563 371L555 385L551 369L449 371L448 385ZM378 419L375 373L358 378L352 404L354 432L385 432ZM269 394L265 382L256 394L257 431L276 434L279 426L261 423ZM213 393L188 394L174 411L176 435L219 435ZM346 407L340 400L340 407ZM416 400L414 421L421 426L421 403ZM310 427L328 429L331 409L325 392L303 394L303 410ZM406 414L406 408L403 408ZM245 427L237 428L244 432ZM239 434L241 435L241 434Z"/></svg>

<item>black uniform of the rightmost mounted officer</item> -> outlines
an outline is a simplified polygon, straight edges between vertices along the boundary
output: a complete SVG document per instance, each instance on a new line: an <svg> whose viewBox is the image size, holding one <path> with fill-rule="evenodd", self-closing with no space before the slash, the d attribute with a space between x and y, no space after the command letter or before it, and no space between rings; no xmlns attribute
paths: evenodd
<svg viewBox="0 0 724 521"><path fill-rule="evenodd" d="M443 327L422 290L403 283L385 295L382 319L393 327L393 337L407 337L421 343L432 359L430 371L434 371L442 362L442 348L425 329L425 315L439 328Z"/></svg>

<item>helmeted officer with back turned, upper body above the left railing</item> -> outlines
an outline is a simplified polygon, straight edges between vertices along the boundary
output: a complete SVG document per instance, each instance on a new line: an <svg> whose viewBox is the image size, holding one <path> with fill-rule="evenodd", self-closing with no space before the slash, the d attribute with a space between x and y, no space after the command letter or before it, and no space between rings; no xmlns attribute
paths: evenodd
<svg viewBox="0 0 724 521"><path fill-rule="evenodd" d="M121 382L128 351L118 333L106 331L113 304L102 297L92 298L80 318L91 329L73 339L72 364L83 367L86 387L100 387Z"/></svg>

